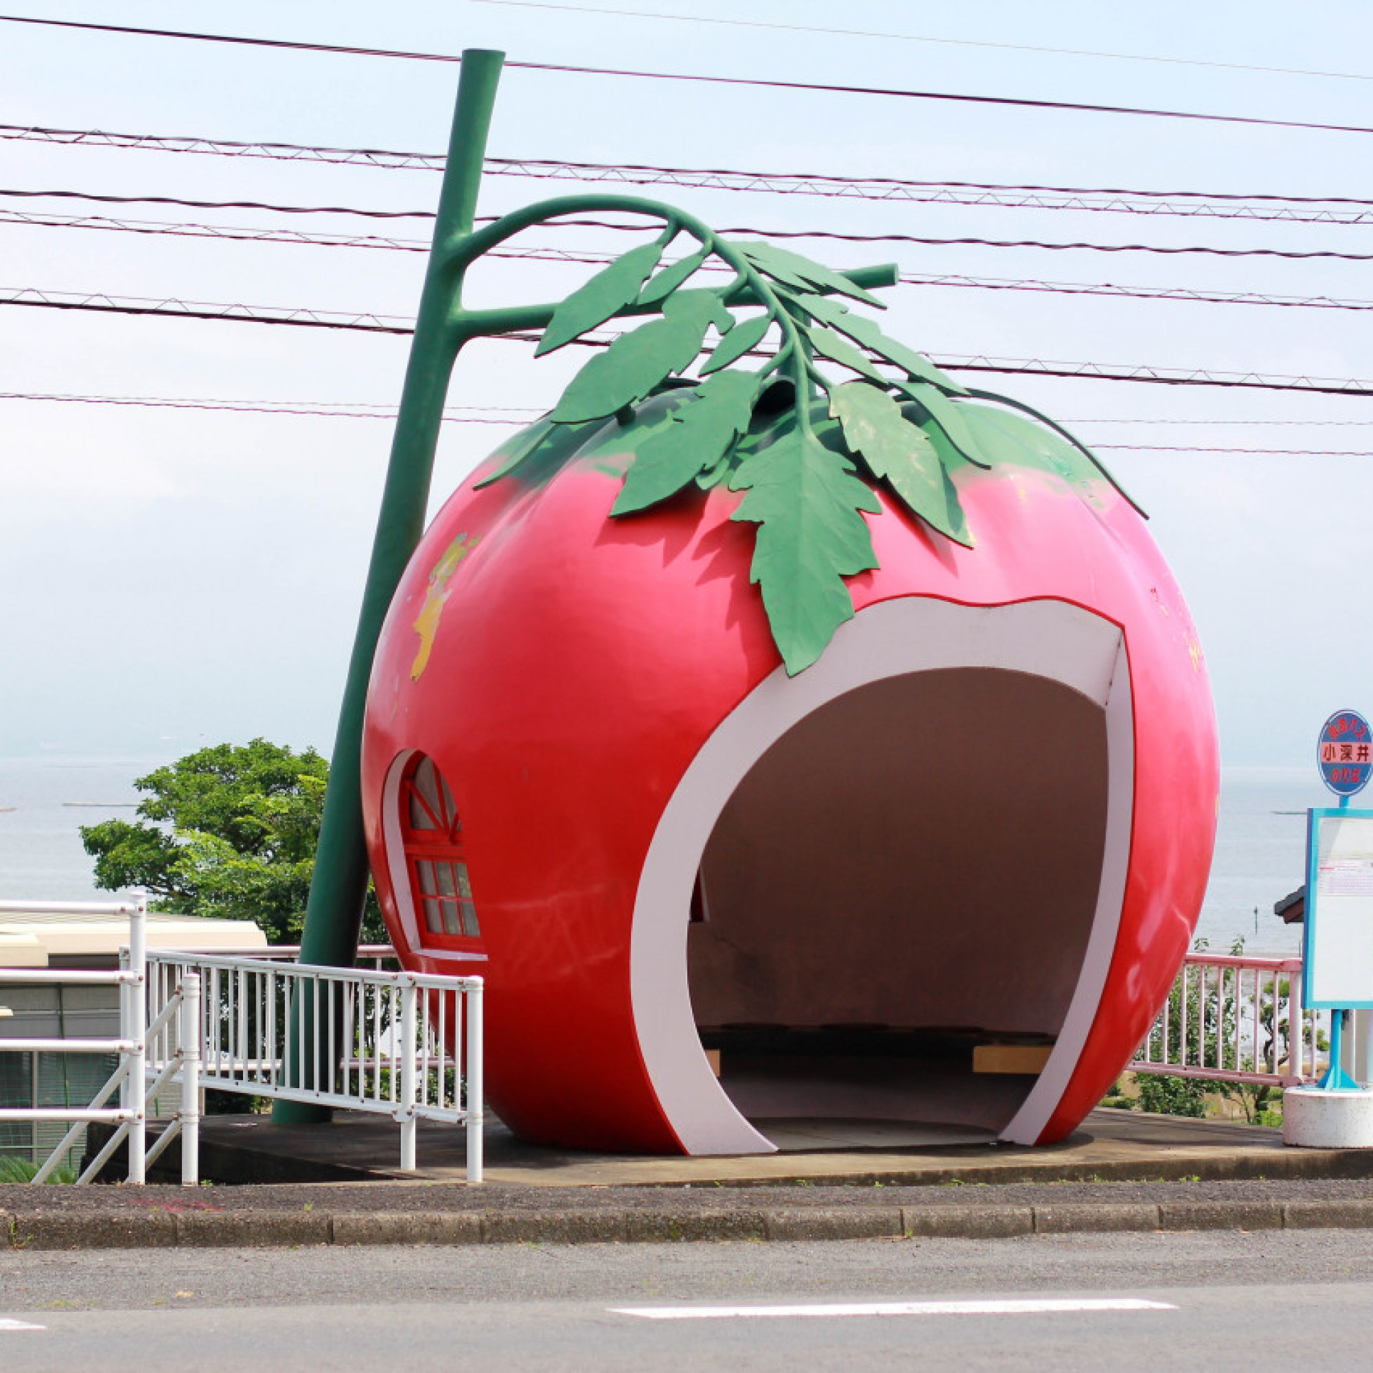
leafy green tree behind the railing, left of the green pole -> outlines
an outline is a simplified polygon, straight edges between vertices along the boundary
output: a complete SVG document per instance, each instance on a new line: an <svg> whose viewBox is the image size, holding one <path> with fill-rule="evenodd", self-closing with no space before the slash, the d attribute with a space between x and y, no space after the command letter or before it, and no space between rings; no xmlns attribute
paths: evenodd
<svg viewBox="0 0 1373 1373"><path fill-rule="evenodd" d="M297 943L314 872L330 765L254 739L214 744L140 777L141 820L81 827L97 887L143 887L154 910L257 923ZM368 891L362 938L387 942Z"/></svg>

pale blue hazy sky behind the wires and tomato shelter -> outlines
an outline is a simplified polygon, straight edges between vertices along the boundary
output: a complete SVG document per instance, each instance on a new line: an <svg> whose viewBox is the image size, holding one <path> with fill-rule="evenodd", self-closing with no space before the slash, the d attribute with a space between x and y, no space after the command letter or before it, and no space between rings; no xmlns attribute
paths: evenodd
<svg viewBox="0 0 1373 1373"><path fill-rule="evenodd" d="M570 0L575 3L575 0ZM923 86L1373 125L1373 11L1354 0L1149 7L853 0L659 14L906 34L872 38L573 12L478 0L224 8L29 0L47 18L794 81ZM961 40L958 43L917 41ZM972 44L1005 44L987 47ZM1243 71L1192 62L1366 73ZM0 122L66 129L437 151L457 69L0 25ZM1032 113L509 71L498 157L829 172L924 180L1280 192L1373 199L1373 136ZM430 209L426 172L229 161L0 141L0 187ZM571 183L489 178L487 210ZM652 192L649 192L652 194ZM717 225L931 236L1090 239L1373 251L1373 227L1256 224L1028 209L660 192ZM18 202L0 196L0 210ZM93 211L27 202L25 209ZM295 222L128 206L124 218ZM336 221L357 228L357 221ZM423 233L402 224L397 232ZM603 240L604 242L604 240ZM906 270L1373 299L1359 262L978 247L811 247ZM0 222L0 286L413 312L420 255L36 228ZM552 298L586 268L493 272L493 298ZM891 328L936 357L1094 360L1373 376L1369 316L902 287ZM408 341L250 324L0 306L0 391L394 404ZM450 401L538 406L577 360L515 345L464 354ZM1373 450L1373 400L986 378L1089 442ZM1120 420L1196 423L1123 424ZM1236 423L1214 423L1218 420ZM1207 423L1201 423L1207 422ZM1255 423L1284 422L1284 423ZM1357 423L1348 423L1357 422ZM0 752L165 752L266 735L332 746L384 468L379 420L0 401ZM435 500L505 430L450 424ZM1103 456L1153 515L1197 619L1227 762L1304 762L1336 707L1373 710L1362 623L1373 463L1208 453Z"/></svg>

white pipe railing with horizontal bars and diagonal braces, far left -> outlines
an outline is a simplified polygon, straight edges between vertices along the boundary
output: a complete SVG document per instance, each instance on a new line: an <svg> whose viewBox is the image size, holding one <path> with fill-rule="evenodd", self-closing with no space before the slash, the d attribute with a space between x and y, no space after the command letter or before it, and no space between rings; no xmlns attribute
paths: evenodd
<svg viewBox="0 0 1373 1373"><path fill-rule="evenodd" d="M126 916L129 943L119 950L118 971L77 971L49 968L0 968L0 986L115 986L119 989L119 1034L110 1038L0 1038L0 1053L99 1053L118 1054L119 1063L108 1081L96 1092L88 1105L32 1105L0 1107L0 1122L66 1122L71 1126L60 1144L48 1155L34 1182L45 1182L62 1156L93 1122L115 1126L99 1153L86 1164L78 1182L89 1182L108 1162L114 1151L128 1141L129 1182L143 1182L148 1164L154 1163L168 1145L185 1133L191 1141L183 1144L181 1181L194 1185L196 1178L196 1122L199 1118L199 1090L196 1078L196 1034L199 1016L199 979L191 973L180 980L158 1015L148 1023L147 1005L147 901L129 902L0 902L0 914L91 914ZM165 1048L165 1061L159 1071L148 1076L148 1042L158 1038ZM147 1148L148 1101L178 1076L181 1081L181 1109ZM118 1105L107 1105L118 1092Z"/></svg>

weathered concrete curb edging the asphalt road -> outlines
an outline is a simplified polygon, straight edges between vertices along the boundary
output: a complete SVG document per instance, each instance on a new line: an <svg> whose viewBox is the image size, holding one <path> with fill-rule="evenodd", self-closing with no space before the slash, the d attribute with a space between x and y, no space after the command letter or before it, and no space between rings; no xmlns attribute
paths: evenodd
<svg viewBox="0 0 1373 1373"><path fill-rule="evenodd" d="M725 1240L994 1240L1185 1230L1373 1229L1373 1199L1071 1201L1045 1205L680 1207L607 1211L0 1211L11 1249L302 1245L673 1244Z"/></svg>

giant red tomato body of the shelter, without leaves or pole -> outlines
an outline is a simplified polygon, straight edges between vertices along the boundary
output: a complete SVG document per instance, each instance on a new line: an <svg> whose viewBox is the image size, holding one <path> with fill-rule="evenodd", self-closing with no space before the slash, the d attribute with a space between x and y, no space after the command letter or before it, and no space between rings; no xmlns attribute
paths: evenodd
<svg viewBox="0 0 1373 1373"><path fill-rule="evenodd" d="M997 454L951 464L978 546L880 496L880 566L788 676L737 492L607 518L674 404L542 426L411 563L362 776L402 960L486 978L490 1101L531 1140L1061 1138L1167 995L1214 839L1205 669L1142 519L1056 432L962 401ZM976 1071L989 1045L1038 1071Z"/></svg>

